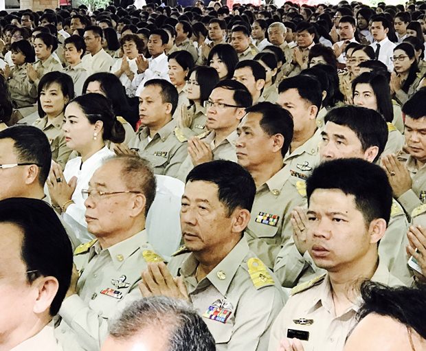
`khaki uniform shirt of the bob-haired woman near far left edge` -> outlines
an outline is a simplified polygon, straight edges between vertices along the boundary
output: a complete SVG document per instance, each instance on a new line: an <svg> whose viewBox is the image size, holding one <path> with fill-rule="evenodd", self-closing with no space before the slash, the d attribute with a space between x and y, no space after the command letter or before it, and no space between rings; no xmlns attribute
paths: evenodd
<svg viewBox="0 0 426 351"><path fill-rule="evenodd" d="M8 80L10 97L17 108L31 106L37 102L37 89L27 76L27 63L12 67Z"/></svg>

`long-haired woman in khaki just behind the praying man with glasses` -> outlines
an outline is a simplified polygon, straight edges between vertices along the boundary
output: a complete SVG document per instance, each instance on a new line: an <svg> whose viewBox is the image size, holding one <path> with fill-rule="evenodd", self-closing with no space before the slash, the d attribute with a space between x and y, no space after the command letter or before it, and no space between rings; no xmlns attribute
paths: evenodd
<svg viewBox="0 0 426 351"><path fill-rule="evenodd" d="M208 100L210 93L219 81L219 75L213 67L194 67L188 73L188 77L186 84L190 105L181 106L176 129L177 135L186 139L207 131L205 127L207 117L203 104Z"/></svg>

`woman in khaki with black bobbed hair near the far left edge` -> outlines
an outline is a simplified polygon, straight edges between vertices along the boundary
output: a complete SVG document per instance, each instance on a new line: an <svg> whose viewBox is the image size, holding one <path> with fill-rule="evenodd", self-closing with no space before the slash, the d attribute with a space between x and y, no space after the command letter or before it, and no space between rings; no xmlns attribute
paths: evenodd
<svg viewBox="0 0 426 351"><path fill-rule="evenodd" d="M5 67L3 76L16 108L31 106L37 101L37 89L27 77L27 65L34 63L34 49L28 41L15 41L10 45L14 67Z"/></svg>

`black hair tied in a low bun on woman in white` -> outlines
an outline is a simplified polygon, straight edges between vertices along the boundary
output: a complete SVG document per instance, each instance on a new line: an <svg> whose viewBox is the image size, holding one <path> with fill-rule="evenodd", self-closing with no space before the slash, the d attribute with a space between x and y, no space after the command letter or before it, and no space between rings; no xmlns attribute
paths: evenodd
<svg viewBox="0 0 426 351"><path fill-rule="evenodd" d="M111 103L104 95L89 93L80 95L71 102L78 104L90 124L103 123L102 139L120 144L124 141L124 127L113 113ZM71 104L71 102L69 102Z"/></svg>

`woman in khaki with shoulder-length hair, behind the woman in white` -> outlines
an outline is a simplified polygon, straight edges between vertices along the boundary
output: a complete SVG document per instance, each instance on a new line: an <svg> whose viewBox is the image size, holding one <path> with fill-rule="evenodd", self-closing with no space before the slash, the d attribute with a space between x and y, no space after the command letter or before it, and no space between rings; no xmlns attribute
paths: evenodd
<svg viewBox="0 0 426 351"><path fill-rule="evenodd" d="M41 129L49 139L52 159L65 168L71 149L67 148L62 130L65 106L74 98L74 84L70 76L49 72L38 84L38 115L33 126Z"/></svg>

